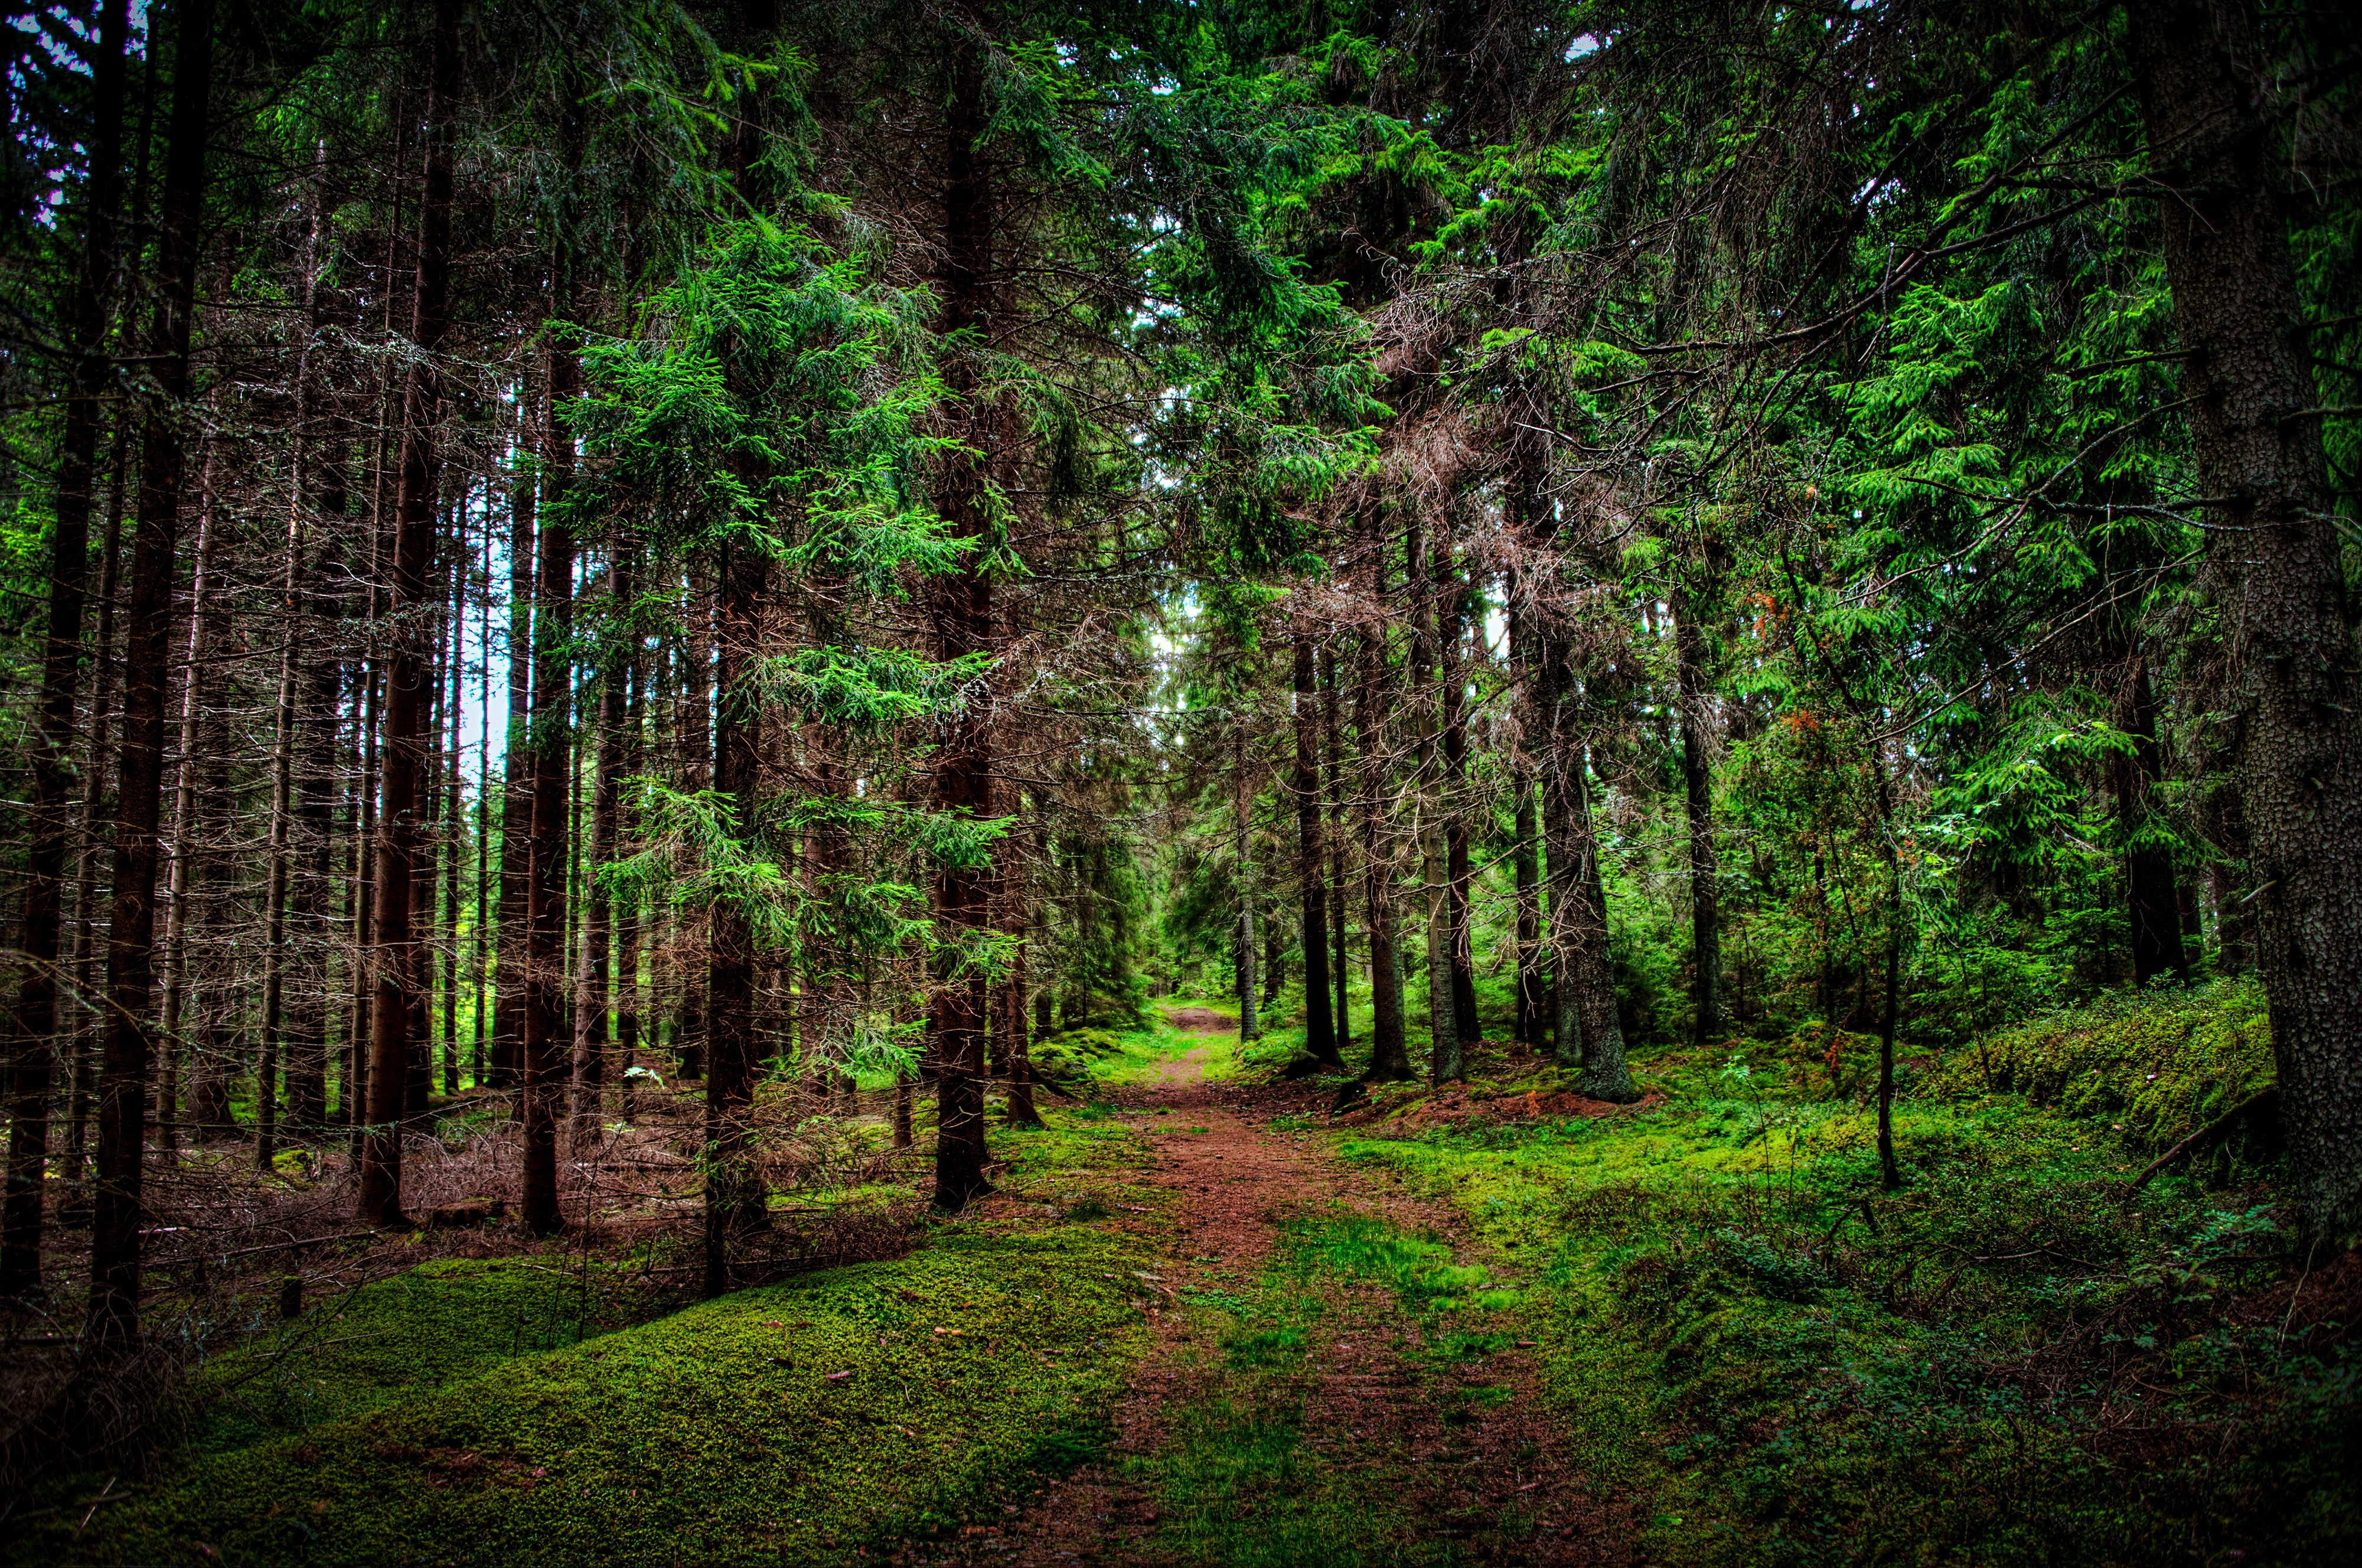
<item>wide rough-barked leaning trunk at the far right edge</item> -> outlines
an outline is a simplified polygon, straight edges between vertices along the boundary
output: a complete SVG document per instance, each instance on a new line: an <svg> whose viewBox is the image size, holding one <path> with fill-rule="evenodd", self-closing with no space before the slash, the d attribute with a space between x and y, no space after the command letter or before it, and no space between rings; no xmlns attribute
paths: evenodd
<svg viewBox="0 0 2362 1568"><path fill-rule="evenodd" d="M2126 7L2208 505L2272 1011L2308 1240L2362 1219L2362 692L2251 0Z"/></svg>

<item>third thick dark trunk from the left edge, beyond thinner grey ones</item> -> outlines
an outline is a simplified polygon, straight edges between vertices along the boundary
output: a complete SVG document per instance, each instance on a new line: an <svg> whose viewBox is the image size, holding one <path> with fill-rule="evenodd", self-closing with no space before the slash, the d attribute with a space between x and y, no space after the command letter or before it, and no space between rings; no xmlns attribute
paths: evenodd
<svg viewBox="0 0 2362 1568"><path fill-rule="evenodd" d="M418 999L428 978L416 940L420 810L428 770L425 595L442 491L442 345L451 295L451 118L458 102L458 0L435 0L418 201L413 359L402 397L402 482L394 501L392 647L385 659L385 756L378 782L376 914L368 1008L368 1131L359 1216L402 1223L402 1112ZM416 1041L425 1048L425 1041Z"/></svg>

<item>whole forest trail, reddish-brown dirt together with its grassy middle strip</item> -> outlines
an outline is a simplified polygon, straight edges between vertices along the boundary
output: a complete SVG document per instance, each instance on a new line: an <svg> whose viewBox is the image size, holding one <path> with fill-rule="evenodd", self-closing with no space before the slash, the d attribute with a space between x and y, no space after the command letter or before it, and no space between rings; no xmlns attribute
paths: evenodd
<svg viewBox="0 0 2362 1568"><path fill-rule="evenodd" d="M1304 1263L1339 1228L1446 1237L1464 1261L1474 1244L1453 1235L1455 1216L1313 1131L1273 1126L1316 1096L1209 1084L1205 1056L1190 1048L1169 1058L1172 1077L1110 1093L1153 1150L1146 1176L1174 1195L1179 1233L1164 1278L1148 1280L1155 1346L1105 1452L1001 1525L895 1561L1637 1561L1564 1466L1528 1341L1493 1334L1472 1353L1457 1320Z"/></svg>

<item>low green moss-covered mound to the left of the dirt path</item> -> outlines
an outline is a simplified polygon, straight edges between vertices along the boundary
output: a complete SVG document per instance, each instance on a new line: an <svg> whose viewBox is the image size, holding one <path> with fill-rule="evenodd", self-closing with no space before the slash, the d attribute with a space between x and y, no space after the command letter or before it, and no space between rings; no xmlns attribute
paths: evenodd
<svg viewBox="0 0 2362 1568"><path fill-rule="evenodd" d="M1136 1138L1051 1112L997 1148L1006 1188L1113 1219L942 1226L628 1327L595 1266L423 1268L326 1332L257 1325L151 1485L76 1530L76 1478L7 1561L824 1563L947 1528L1098 1445L1160 1256Z"/></svg>

